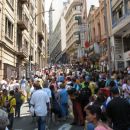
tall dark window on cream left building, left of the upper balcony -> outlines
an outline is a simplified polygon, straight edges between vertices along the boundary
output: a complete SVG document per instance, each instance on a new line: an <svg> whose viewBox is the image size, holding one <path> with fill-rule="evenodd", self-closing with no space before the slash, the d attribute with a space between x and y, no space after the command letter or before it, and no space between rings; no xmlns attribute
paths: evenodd
<svg viewBox="0 0 130 130"><path fill-rule="evenodd" d="M13 24L7 17L5 19L5 34L9 39L13 40Z"/></svg>

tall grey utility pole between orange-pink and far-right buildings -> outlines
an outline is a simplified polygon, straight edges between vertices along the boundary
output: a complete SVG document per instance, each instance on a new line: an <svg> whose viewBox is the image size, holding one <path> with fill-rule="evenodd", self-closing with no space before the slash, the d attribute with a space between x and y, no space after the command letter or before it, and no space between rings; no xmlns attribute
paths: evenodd
<svg viewBox="0 0 130 130"><path fill-rule="evenodd" d="M109 37L109 30L108 30L107 0L104 0L104 20L105 20L105 34L106 34L106 37L107 37L109 75L111 76L111 73L112 73L112 65L111 65L110 37Z"/></svg>

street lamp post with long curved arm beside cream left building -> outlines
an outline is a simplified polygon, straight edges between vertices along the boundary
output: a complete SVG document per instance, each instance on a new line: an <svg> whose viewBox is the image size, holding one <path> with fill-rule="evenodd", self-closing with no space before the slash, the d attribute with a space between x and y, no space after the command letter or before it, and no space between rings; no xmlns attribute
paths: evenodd
<svg viewBox="0 0 130 130"><path fill-rule="evenodd" d="M36 14L33 18L32 18L32 22L31 22L31 25L33 25L33 22L36 20L36 18L41 15L41 14L44 14L44 13L49 13L49 12L52 12L52 11L55 11L54 9L51 9L51 10L48 10L48 11L42 11L38 14ZM45 41L46 42L46 41ZM45 54L46 55L46 54ZM29 55L29 76L31 78L31 72L32 72L32 63L31 61L33 60L33 56L31 55L31 34L30 34L30 55ZM36 56L35 56L35 69L36 69ZM36 71L36 70L35 70Z"/></svg>

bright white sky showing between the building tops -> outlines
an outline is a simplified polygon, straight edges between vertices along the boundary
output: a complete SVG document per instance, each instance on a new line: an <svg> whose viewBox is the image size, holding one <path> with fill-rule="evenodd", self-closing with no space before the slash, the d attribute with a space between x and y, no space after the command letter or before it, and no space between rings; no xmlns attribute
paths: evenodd
<svg viewBox="0 0 130 130"><path fill-rule="evenodd" d="M48 11L49 10L49 7L50 7L50 4L51 4L51 1L52 0L45 0L45 10ZM62 12L62 9L63 9L63 2L65 2L67 0L53 0L53 9L55 9L55 11L53 12L53 22L54 22L54 27L56 26L58 20L59 20L59 17L61 15L61 12ZM89 11L91 5L96 5L98 6L99 5L99 0L88 0L87 1L87 9ZM45 14L45 21L46 21L46 24L48 25L49 23L49 19L48 19L48 13Z"/></svg>

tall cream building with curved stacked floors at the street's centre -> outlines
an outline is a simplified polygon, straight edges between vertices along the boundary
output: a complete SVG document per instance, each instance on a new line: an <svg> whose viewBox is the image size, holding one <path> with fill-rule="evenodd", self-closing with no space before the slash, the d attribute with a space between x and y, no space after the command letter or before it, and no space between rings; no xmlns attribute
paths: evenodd
<svg viewBox="0 0 130 130"><path fill-rule="evenodd" d="M69 55L69 63L78 59L80 42L79 22L82 15L82 1L70 0L65 8L66 21L66 53Z"/></svg>

